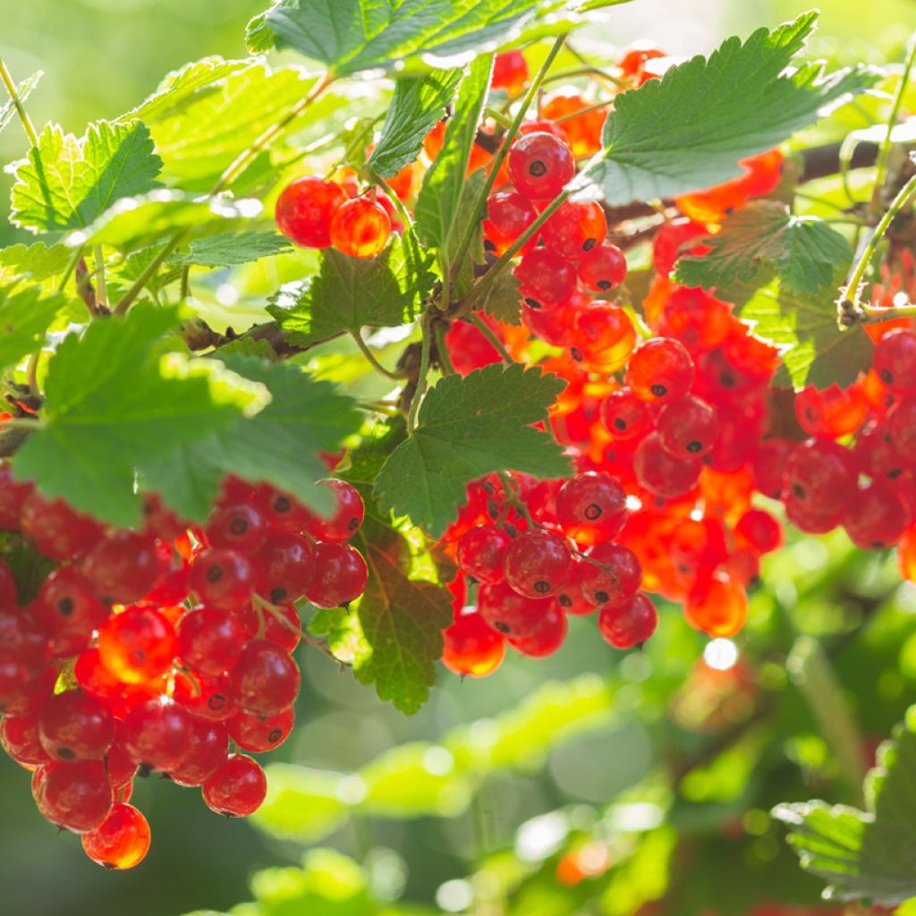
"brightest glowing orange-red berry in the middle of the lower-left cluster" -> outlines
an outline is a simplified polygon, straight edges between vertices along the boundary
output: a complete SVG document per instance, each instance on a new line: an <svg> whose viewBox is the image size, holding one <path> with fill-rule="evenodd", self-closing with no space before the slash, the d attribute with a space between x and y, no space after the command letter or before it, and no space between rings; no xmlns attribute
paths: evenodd
<svg viewBox="0 0 916 916"><path fill-rule="evenodd" d="M177 648L174 627L155 607L128 607L99 630L99 660L125 683L168 671Z"/></svg>

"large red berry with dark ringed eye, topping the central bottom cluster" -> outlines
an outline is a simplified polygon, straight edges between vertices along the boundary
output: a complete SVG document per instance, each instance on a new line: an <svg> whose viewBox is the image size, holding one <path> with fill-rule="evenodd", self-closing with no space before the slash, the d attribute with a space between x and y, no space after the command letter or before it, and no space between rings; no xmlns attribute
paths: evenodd
<svg viewBox="0 0 916 916"><path fill-rule="evenodd" d="M583 547L615 538L628 516L627 492L605 472L575 474L557 494L557 521Z"/></svg>

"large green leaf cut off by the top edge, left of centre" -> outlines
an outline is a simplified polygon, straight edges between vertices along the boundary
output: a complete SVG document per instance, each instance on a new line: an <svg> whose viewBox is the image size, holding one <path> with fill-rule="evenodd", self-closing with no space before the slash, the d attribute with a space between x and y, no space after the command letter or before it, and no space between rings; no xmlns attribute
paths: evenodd
<svg viewBox="0 0 916 916"><path fill-rule="evenodd" d="M542 0L279 0L248 24L248 49L299 51L337 75L422 56L491 47L537 12Z"/></svg>

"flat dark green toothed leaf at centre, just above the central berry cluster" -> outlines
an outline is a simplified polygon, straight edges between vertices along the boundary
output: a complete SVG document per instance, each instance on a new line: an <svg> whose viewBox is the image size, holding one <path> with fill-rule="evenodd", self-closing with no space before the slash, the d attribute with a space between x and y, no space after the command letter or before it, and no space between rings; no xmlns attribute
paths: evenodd
<svg viewBox="0 0 916 916"><path fill-rule="evenodd" d="M557 376L518 364L443 378L423 399L413 435L378 474L379 505L438 538L463 503L465 485L477 477L567 474L560 445L530 425L546 420L563 385Z"/></svg>

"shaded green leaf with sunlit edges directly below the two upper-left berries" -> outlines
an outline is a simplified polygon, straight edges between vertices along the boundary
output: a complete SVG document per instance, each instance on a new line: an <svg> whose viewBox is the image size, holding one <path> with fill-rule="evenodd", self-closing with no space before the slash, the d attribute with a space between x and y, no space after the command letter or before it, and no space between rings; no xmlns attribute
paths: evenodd
<svg viewBox="0 0 916 916"><path fill-rule="evenodd" d="M433 281L431 256L405 231L376 257L328 249L318 276L289 284L268 311L296 344L307 346L365 326L413 321Z"/></svg>

